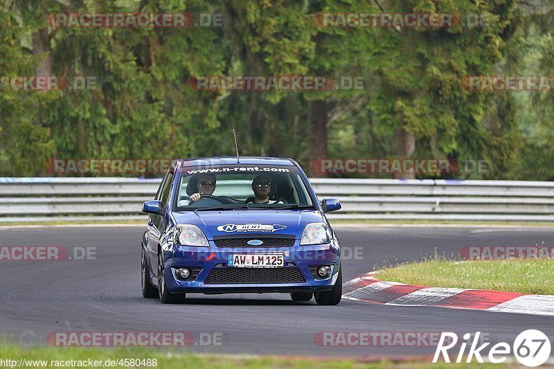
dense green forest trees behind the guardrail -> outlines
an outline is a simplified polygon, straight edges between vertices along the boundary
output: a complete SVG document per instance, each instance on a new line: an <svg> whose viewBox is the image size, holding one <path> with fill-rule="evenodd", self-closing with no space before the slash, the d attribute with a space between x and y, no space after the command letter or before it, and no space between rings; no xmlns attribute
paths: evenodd
<svg viewBox="0 0 554 369"><path fill-rule="evenodd" d="M235 128L241 154L289 156L305 168L321 157L470 159L488 170L447 177L554 180L554 91L461 83L554 75L549 0L0 0L0 8L0 76L96 78L95 89L0 89L1 176L46 174L53 158L229 155ZM53 28L46 17L55 12L220 13L223 26ZM322 12L472 13L490 23L321 27ZM364 88L196 91L189 80L202 75L357 76Z"/></svg>

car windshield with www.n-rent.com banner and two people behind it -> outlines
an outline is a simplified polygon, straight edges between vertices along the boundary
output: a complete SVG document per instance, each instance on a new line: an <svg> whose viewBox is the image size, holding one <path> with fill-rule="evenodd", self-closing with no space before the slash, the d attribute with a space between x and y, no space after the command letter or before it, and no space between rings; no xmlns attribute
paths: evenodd
<svg viewBox="0 0 554 369"><path fill-rule="evenodd" d="M294 166L214 165L181 170L175 211L314 208Z"/></svg>

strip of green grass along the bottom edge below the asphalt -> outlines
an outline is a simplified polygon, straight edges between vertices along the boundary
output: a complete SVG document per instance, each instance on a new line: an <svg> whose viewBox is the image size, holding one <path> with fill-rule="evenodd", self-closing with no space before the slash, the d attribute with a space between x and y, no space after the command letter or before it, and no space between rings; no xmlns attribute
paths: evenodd
<svg viewBox="0 0 554 369"><path fill-rule="evenodd" d="M337 352L337 354L340 354ZM47 360L47 361L106 361L118 359L157 359L157 366L134 366L127 368L510 368L506 365L493 364L431 364L429 361L377 361L364 362L355 359L316 359L314 357L258 357L248 355L226 354L193 354L179 350L156 350L154 348L57 348L50 346L19 347L17 345L0 345L0 359ZM50 364L50 363L48 363ZM35 366L39 368L39 366ZM514 366L515 367L515 366ZM9 366L8 366L9 368ZM83 367L84 368L84 367ZM107 368L107 366L100 366ZM112 366L111 368L122 368Z"/></svg>

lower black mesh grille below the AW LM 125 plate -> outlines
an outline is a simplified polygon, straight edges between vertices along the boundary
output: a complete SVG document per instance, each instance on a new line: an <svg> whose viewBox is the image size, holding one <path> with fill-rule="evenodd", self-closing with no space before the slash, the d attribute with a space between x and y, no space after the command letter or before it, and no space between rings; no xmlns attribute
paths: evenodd
<svg viewBox="0 0 554 369"><path fill-rule="evenodd" d="M305 283L300 269L290 268L214 268L205 285L248 283Z"/></svg>

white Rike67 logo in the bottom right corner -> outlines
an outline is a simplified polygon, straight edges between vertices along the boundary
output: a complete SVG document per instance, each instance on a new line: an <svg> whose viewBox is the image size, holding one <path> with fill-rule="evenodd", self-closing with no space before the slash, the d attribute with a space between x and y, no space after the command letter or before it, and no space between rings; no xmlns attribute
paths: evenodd
<svg viewBox="0 0 554 369"><path fill-rule="evenodd" d="M490 345L490 343L483 343L479 347L479 336L481 332L476 332L474 339L471 339L472 334L466 333L463 335L463 342L460 345L458 356L456 357L456 363L461 363L463 357L466 356L465 362L471 363L475 358L478 363L484 363L481 351ZM450 357L448 350L454 348L458 344L458 335L453 332L443 332L440 335L438 346L433 357L433 362L436 363L443 355L445 363L450 363ZM470 345L470 349L465 353L467 345ZM488 361L490 363L503 363L508 359L508 356L515 356L517 361L524 366L539 366L548 360L551 354L551 344L548 336L539 330L526 330L521 332L515 339L512 347L506 342L500 342L493 345L488 352ZM483 354L484 355L484 354Z"/></svg>

